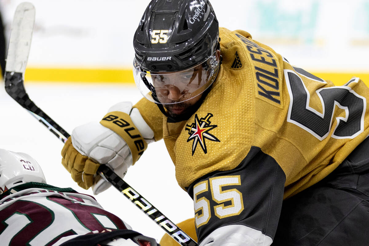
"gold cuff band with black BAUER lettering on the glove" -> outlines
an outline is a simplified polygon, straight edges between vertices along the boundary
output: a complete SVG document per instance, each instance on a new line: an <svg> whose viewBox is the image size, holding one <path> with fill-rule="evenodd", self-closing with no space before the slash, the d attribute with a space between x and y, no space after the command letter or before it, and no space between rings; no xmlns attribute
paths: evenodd
<svg viewBox="0 0 369 246"><path fill-rule="evenodd" d="M129 114L114 111L106 114L100 124L121 136L132 153L133 164L147 148L147 143L133 124Z"/></svg>

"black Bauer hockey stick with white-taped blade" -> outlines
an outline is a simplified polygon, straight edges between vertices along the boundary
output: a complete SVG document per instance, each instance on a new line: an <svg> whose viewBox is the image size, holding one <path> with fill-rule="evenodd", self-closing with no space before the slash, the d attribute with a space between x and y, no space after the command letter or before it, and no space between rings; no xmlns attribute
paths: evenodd
<svg viewBox="0 0 369 246"><path fill-rule="evenodd" d="M18 5L10 33L5 72L5 90L18 104L30 112L39 122L65 143L70 134L37 107L24 88L24 73L30 52L34 22L34 6L31 3L21 3ZM151 203L146 201L144 197L115 174L108 166L104 164L100 165L97 173L144 211L146 215L161 226L180 245L197 246L197 243L192 238L178 228Z"/></svg>

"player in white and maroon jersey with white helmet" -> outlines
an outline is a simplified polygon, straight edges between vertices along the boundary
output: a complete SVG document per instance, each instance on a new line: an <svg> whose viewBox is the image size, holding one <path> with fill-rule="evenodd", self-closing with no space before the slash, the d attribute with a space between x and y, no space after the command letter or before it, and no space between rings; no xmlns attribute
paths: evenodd
<svg viewBox="0 0 369 246"><path fill-rule="evenodd" d="M155 246L97 201L72 188L46 184L25 153L0 149L0 244Z"/></svg>

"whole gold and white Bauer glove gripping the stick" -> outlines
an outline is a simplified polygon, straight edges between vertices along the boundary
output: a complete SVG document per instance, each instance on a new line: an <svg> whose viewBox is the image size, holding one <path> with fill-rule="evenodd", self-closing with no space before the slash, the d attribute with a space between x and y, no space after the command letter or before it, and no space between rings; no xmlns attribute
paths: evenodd
<svg viewBox="0 0 369 246"><path fill-rule="evenodd" d="M62 149L62 164L74 181L85 189L92 186L98 194L110 184L96 171L100 164L107 164L121 178L154 142L154 132L146 124L132 103L115 104L99 122L76 127Z"/></svg>

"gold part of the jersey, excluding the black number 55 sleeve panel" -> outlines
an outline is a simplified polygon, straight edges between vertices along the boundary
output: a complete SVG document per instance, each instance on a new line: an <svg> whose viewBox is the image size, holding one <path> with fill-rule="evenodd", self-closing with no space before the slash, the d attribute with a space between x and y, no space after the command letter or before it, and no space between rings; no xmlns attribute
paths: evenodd
<svg viewBox="0 0 369 246"><path fill-rule="evenodd" d="M368 136L369 89L361 79L334 86L248 32L220 28L220 38L223 63L190 119L168 122L144 98L135 105L155 139L164 139L183 189L236 168L256 146L282 168L287 198L331 173Z"/></svg>

